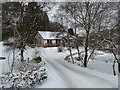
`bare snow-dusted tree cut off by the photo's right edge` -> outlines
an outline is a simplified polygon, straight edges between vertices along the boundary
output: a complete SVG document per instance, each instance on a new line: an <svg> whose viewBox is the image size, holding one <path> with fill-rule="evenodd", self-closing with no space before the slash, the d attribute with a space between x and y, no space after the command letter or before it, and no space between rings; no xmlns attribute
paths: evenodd
<svg viewBox="0 0 120 90"><path fill-rule="evenodd" d="M119 71L119 15L120 6L119 3L109 4L110 8L106 12L106 23L105 27L108 29L107 35L103 36L103 43L106 42L109 45L109 51L113 54L115 60L113 61L113 73L116 75L115 64L118 63ZM111 7L112 6L112 7ZM108 13L109 12L109 13ZM102 44L102 43L101 43Z"/></svg>

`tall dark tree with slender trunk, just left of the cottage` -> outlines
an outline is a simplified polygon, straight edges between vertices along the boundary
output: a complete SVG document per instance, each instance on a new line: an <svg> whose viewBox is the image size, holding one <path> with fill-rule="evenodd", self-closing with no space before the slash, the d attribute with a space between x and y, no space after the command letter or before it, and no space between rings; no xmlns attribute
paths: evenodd
<svg viewBox="0 0 120 90"><path fill-rule="evenodd" d="M35 2L29 2L28 5L24 2L20 3L20 17L17 21L17 29L15 31L19 37L21 61L24 60L24 50L26 45L28 45L28 40L31 37L31 34L35 35L37 29L43 27L40 24L42 21L44 21L43 16L46 15L46 13L43 11L43 9L47 5L47 3ZM47 8L47 10L49 9ZM34 11L34 14L32 14L32 10ZM47 28L47 26L45 27Z"/></svg>

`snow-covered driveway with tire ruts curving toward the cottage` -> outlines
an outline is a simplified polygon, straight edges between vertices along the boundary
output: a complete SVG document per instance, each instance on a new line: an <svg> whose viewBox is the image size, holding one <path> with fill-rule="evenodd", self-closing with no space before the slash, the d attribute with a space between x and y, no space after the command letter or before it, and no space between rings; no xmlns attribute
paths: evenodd
<svg viewBox="0 0 120 90"><path fill-rule="evenodd" d="M54 55L55 54L55 55ZM69 64L63 60L64 53L54 50L43 50L42 57L46 61L48 79L38 88L117 88L114 77Z"/></svg>

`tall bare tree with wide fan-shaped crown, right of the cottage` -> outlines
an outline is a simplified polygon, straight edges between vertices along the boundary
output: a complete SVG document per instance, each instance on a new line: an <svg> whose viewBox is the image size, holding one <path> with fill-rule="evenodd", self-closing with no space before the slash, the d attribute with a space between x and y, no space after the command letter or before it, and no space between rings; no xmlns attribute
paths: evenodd
<svg viewBox="0 0 120 90"><path fill-rule="evenodd" d="M100 28L103 14L106 11L106 5L100 2L75 2L65 3L61 7L64 9L66 15L84 30L84 66L87 67L89 35L92 31L97 31L97 28Z"/></svg>

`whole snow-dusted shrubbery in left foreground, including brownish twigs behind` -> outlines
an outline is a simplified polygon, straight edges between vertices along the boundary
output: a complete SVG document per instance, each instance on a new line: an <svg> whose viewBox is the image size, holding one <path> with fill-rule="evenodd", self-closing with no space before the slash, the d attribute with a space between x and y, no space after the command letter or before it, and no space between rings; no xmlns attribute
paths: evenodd
<svg viewBox="0 0 120 90"><path fill-rule="evenodd" d="M15 70L14 73L3 74L1 82L4 88L32 88L47 79L42 63L19 62L15 65Z"/></svg>

